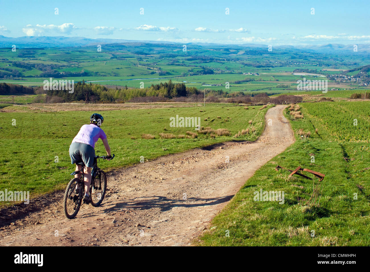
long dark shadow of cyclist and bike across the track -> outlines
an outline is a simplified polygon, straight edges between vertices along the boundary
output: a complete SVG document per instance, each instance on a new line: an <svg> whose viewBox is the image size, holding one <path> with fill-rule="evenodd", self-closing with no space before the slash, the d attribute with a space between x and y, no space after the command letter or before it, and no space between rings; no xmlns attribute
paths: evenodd
<svg viewBox="0 0 370 272"><path fill-rule="evenodd" d="M216 198L187 198L186 200L167 198L157 195L154 195L152 197L135 197L132 199L125 199L123 202L118 203L117 202L113 203L114 201L104 202L102 206L107 206L107 208L99 211L98 213L91 211L88 214L85 214L83 217L97 216L99 214L105 214L109 212L120 212L125 211L127 209L146 210L160 208L161 212L165 212L171 210L174 207L194 208L201 206L211 206L227 202L233 196L234 195L227 195L225 197L216 197ZM137 202L138 199L143 199L143 201Z"/></svg>

